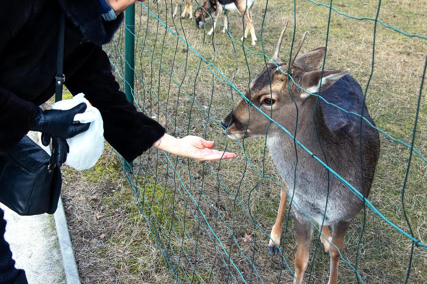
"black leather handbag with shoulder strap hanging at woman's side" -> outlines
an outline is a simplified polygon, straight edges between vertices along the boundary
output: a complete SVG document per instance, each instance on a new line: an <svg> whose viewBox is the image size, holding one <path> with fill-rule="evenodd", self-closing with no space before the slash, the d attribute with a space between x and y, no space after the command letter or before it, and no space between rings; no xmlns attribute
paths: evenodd
<svg viewBox="0 0 427 284"><path fill-rule="evenodd" d="M55 101L62 99L65 15L61 12ZM61 195L61 169L52 156L25 135L0 156L0 202L19 215L53 214Z"/></svg>

